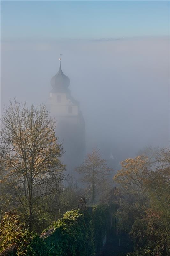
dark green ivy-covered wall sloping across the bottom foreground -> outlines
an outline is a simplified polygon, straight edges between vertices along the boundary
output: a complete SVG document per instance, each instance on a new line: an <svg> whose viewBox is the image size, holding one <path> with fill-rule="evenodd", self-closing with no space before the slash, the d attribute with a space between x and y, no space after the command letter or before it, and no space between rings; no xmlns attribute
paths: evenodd
<svg viewBox="0 0 170 256"><path fill-rule="evenodd" d="M90 210L72 210L66 212L61 220L56 221L41 236L32 234L26 243L20 240L15 255L99 255L109 225L110 213L106 205L94 206Z"/></svg>

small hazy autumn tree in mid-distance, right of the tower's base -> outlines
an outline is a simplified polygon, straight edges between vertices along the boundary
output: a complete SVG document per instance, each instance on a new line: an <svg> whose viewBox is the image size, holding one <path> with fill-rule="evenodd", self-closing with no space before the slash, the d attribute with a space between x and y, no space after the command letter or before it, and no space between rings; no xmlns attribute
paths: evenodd
<svg viewBox="0 0 170 256"><path fill-rule="evenodd" d="M89 185L89 190L92 197L92 204L95 203L97 195L107 189L109 172L111 168L107 166L107 161L101 158L99 150L93 149L92 154L87 154L84 163L75 169L76 172L81 174L81 181Z"/></svg>

